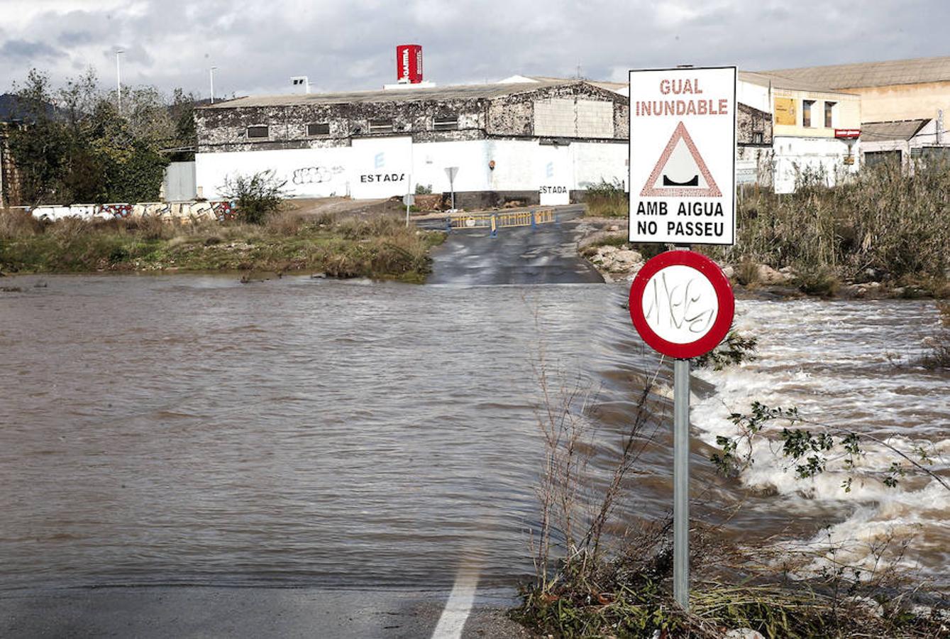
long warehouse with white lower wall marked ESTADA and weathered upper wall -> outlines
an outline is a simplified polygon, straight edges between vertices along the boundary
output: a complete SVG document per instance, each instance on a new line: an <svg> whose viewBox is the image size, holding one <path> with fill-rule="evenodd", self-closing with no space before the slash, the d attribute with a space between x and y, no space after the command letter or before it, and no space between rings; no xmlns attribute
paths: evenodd
<svg viewBox="0 0 950 639"><path fill-rule="evenodd" d="M382 198L417 185L460 206L568 203L626 184L629 99L584 81L249 97L196 111L196 178L273 170L295 197Z"/></svg>

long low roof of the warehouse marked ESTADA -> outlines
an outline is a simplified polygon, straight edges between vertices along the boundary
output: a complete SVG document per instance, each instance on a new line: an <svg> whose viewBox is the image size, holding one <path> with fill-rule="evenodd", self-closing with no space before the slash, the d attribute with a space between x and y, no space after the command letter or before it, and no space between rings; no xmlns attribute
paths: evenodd
<svg viewBox="0 0 950 639"><path fill-rule="evenodd" d="M201 108L292 107L304 105L338 105L366 102L428 102L447 100L479 100L499 98L514 93L535 91L544 87L574 84L577 80L530 82L492 85L461 85L457 87L392 88L349 93L294 93L291 95L260 95L237 98Z"/></svg>

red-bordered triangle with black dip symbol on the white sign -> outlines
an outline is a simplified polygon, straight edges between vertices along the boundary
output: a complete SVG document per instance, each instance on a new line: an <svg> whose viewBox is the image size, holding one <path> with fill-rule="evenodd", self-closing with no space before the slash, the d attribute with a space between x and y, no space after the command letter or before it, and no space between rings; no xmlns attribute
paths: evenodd
<svg viewBox="0 0 950 639"><path fill-rule="evenodd" d="M640 196L646 197L722 197L722 191L712 179L710 169L703 161L690 132L680 122L647 183L643 184Z"/></svg>

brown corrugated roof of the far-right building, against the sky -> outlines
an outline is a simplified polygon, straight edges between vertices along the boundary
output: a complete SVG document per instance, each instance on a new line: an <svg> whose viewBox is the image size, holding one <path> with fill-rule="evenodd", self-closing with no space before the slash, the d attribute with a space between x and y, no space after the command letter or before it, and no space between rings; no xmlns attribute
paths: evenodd
<svg viewBox="0 0 950 639"><path fill-rule="evenodd" d="M950 56L764 71L812 87L861 88L950 81Z"/></svg>

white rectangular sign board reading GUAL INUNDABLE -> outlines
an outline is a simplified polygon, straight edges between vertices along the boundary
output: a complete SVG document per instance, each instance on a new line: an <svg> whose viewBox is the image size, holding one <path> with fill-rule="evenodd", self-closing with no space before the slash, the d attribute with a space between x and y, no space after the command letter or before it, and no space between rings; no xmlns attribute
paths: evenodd
<svg viewBox="0 0 950 639"><path fill-rule="evenodd" d="M630 241L735 242L736 68L630 71Z"/></svg>

